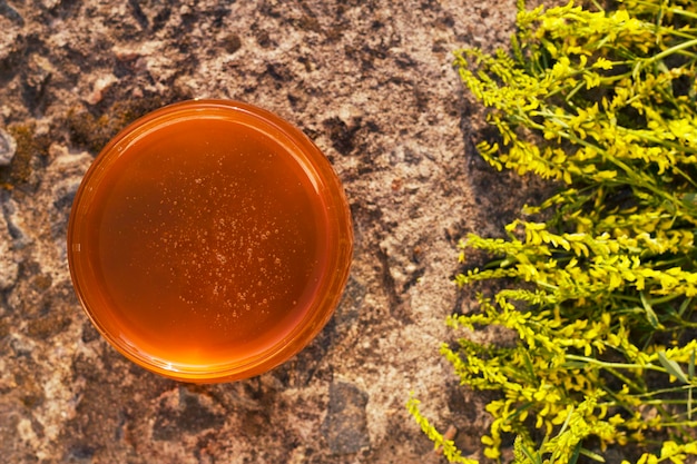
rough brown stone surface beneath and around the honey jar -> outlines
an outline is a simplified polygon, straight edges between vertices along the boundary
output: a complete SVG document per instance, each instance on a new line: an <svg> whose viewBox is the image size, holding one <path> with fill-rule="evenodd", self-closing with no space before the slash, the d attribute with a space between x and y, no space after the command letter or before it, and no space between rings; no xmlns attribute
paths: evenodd
<svg viewBox="0 0 697 464"><path fill-rule="evenodd" d="M0 135L16 144L0 155L2 461L441 462L405 412L410 392L481 457L484 398L438 354L443 319L471 298L451 283L455 243L499 233L533 190L475 156L482 118L451 51L505 43L514 3L0 1ZM289 363L234 384L179 384L124 359L84 315L66 261L71 200L100 148L193 97L302 128L355 220L335 317Z"/></svg>

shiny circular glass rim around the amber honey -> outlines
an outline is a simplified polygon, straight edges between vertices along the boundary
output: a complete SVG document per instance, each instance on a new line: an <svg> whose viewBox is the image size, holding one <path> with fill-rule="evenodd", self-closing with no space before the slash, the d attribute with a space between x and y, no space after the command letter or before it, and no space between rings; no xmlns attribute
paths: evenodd
<svg viewBox="0 0 697 464"><path fill-rule="evenodd" d="M81 275L89 257L81 250L81 211L95 200L91 186L110 172L114 159L121 156L138 140L153 135L163 125L199 118L223 118L254 125L264 136L279 141L284 149L293 151L293 159L303 164L305 172L317 189L326 213L325 227L328 244L327 273L321 277L320 290L312 307L302 319L279 340L244 359L207 365L184 365L148 355L138 346L130 346L115 336L99 317L99 310L90 303ZM94 207L94 205L91 205ZM298 128L281 117L256 106L218 99L186 100L156 109L128 125L117 134L95 158L76 192L68 221L68 263L73 288L80 304L97 330L118 352L131 362L160 375L185 382L229 382L251 377L269 371L304 348L326 325L346 285L353 254L353 225L348 204L331 164L321 150ZM109 309L105 309L109 310Z"/></svg>

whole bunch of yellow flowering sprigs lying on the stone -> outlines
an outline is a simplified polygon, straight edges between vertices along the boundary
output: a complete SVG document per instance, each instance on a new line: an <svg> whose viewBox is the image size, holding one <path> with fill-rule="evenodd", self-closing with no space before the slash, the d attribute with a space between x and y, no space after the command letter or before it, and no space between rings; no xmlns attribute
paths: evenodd
<svg viewBox="0 0 697 464"><path fill-rule="evenodd" d="M514 437L517 463L602 461L627 445L647 451L638 464L686 463L697 455L697 3L519 6L510 52L461 50L454 65L499 132L481 156L559 189L505 238L460 243L464 265L471 249L492 257L458 275L461 287L510 285L450 317L460 339L441 353L463 385L498 392L489 458Z"/></svg>

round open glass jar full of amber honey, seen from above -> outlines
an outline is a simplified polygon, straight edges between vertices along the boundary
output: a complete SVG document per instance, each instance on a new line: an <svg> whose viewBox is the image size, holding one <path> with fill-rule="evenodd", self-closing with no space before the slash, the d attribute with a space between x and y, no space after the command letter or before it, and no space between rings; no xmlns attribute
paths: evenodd
<svg viewBox="0 0 697 464"><path fill-rule="evenodd" d="M302 349L345 285L351 218L296 128L194 100L119 134L73 203L76 292L124 355L190 382L257 375Z"/></svg>

